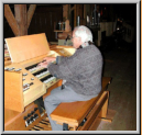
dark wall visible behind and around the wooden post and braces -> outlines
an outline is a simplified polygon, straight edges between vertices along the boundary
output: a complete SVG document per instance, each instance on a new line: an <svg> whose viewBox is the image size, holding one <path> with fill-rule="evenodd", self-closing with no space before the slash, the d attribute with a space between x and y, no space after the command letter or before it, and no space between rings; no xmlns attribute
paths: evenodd
<svg viewBox="0 0 142 135"><path fill-rule="evenodd" d="M11 5L14 14L14 8ZM4 16L3 16L4 18ZM54 22L63 20L63 5L36 5L33 18L31 20L28 34L45 33L48 42L56 42L54 32ZM6 18L3 19L3 37L14 37Z"/></svg>

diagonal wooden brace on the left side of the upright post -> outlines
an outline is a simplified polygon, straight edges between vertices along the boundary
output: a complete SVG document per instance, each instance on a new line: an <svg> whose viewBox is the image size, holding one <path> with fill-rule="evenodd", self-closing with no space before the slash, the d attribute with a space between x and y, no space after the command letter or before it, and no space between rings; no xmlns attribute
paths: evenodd
<svg viewBox="0 0 142 135"><path fill-rule="evenodd" d="M9 4L4 4L4 16L6 16L10 27L12 29L14 35L18 36L19 35L19 26L18 26L17 20L14 19L14 15L13 15Z"/></svg>

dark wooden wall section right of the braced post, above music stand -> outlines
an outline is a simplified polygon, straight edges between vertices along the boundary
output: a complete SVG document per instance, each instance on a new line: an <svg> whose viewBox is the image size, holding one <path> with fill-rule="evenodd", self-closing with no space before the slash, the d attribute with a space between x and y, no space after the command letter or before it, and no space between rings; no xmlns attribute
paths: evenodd
<svg viewBox="0 0 142 135"><path fill-rule="evenodd" d="M54 22L63 20L62 4L58 7L36 7L29 34L45 33L48 42L56 42L54 33Z"/></svg>

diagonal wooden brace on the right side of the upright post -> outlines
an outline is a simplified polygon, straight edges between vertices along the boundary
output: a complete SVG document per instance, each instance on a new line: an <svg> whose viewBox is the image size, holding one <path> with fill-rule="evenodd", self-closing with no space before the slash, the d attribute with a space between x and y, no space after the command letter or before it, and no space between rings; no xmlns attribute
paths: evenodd
<svg viewBox="0 0 142 135"><path fill-rule="evenodd" d="M31 23L32 16L34 14L35 8L36 8L36 4L30 4L29 11L28 11L28 29L30 26L30 23Z"/></svg>

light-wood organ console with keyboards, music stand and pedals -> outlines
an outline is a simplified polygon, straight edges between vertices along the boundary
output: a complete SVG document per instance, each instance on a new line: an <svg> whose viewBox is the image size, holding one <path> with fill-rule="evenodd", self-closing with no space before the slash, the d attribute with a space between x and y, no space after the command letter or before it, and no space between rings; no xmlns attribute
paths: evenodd
<svg viewBox="0 0 142 135"><path fill-rule="evenodd" d="M45 33L6 38L6 43L11 64L4 66L4 131L51 131L43 99L62 80L37 64L44 57L70 56L75 48L50 48Z"/></svg>

